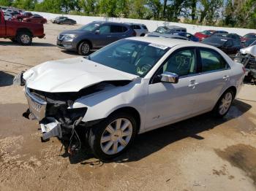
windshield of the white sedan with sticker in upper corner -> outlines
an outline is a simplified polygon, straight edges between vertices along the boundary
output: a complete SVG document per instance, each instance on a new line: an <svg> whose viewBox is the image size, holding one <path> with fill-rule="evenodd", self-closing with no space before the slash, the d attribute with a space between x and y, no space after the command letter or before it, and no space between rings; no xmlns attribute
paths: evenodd
<svg viewBox="0 0 256 191"><path fill-rule="evenodd" d="M123 39L89 56L89 60L140 77L150 71L170 47Z"/></svg>

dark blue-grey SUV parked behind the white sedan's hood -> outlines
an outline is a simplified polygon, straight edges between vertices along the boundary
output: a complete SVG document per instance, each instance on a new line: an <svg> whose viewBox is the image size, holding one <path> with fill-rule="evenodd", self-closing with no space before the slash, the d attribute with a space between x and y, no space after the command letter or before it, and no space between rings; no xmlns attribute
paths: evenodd
<svg viewBox="0 0 256 191"><path fill-rule="evenodd" d="M57 38L57 45L87 55L91 50L130 36L136 36L136 32L128 24L94 21L78 30L63 31Z"/></svg>

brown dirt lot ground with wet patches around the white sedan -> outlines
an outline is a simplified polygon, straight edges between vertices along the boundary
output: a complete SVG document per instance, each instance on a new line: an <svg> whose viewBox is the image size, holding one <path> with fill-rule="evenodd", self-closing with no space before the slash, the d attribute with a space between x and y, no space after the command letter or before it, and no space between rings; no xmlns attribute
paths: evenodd
<svg viewBox="0 0 256 191"><path fill-rule="evenodd" d="M44 61L72 58L55 46L60 31L20 47L0 39L0 190L256 190L256 86L244 85L227 117L203 114L138 136L109 163L86 149L69 157L58 139L40 141L22 87L12 78Z"/></svg>

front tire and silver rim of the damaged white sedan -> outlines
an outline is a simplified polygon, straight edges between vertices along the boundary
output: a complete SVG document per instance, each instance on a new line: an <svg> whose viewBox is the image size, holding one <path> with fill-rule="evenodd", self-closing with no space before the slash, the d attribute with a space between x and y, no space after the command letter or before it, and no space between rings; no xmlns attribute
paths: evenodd
<svg viewBox="0 0 256 191"><path fill-rule="evenodd" d="M116 121L121 124L118 125L119 128L116 126L118 124ZM110 128L110 125L112 128ZM127 127L125 128L125 126ZM132 114L126 112L111 114L91 128L89 131L89 146L94 155L100 160L113 159L130 147L137 134L137 126L138 124Z"/></svg>

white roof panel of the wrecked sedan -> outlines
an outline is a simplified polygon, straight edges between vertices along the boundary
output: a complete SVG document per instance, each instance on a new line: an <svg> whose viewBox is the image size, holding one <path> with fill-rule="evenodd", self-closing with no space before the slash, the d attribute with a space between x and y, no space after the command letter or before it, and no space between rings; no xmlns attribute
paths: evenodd
<svg viewBox="0 0 256 191"><path fill-rule="evenodd" d="M170 39L170 38L162 38L162 37L151 37L151 36L137 36L137 37L130 37L127 39L141 41L141 42L148 42L152 44L161 44L167 47L175 47L177 45L186 45L186 46L195 46L195 47L211 47L207 44L201 44L198 42L192 42L187 40L181 40L181 39ZM211 47L212 48L212 47Z"/></svg>

